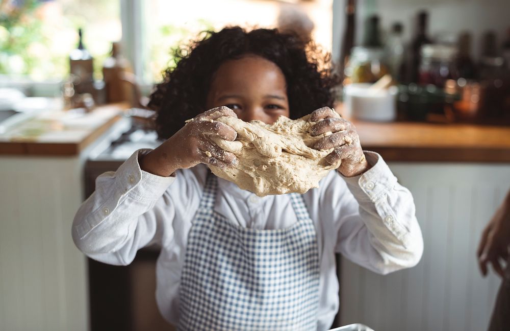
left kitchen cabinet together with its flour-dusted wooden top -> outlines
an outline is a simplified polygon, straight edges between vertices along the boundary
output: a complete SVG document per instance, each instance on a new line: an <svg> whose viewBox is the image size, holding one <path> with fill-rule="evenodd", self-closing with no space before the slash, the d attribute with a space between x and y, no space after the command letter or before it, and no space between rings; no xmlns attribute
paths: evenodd
<svg viewBox="0 0 510 331"><path fill-rule="evenodd" d="M83 164L126 129L125 108L43 112L0 134L0 330L89 329L87 261L71 224Z"/></svg>

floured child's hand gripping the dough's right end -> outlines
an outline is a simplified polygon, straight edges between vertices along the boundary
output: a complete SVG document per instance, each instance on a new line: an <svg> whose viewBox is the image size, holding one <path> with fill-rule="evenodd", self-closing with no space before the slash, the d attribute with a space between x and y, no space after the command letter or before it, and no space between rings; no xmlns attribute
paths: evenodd
<svg viewBox="0 0 510 331"><path fill-rule="evenodd" d="M315 110L308 121L317 122L310 129L312 136L331 132L327 137L319 139L313 148L317 150L335 148L326 156L326 161L335 164L338 160L342 160L337 170L343 176L357 176L369 169L369 164L360 145L360 138L351 122L342 119L336 111L329 107Z"/></svg>

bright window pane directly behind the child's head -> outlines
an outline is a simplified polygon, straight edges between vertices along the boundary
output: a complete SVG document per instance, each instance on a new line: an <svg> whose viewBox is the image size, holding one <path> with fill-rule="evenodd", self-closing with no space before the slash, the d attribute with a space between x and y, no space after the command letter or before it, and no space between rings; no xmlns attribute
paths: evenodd
<svg viewBox="0 0 510 331"><path fill-rule="evenodd" d="M296 1L297 3L297 1ZM314 39L331 51L333 0L300 2L313 21ZM253 28L276 27L283 1L267 0L146 0L143 2L143 79L161 80L161 72L172 64L170 49L196 39L199 32L228 25ZM287 4L287 6L289 6Z"/></svg>

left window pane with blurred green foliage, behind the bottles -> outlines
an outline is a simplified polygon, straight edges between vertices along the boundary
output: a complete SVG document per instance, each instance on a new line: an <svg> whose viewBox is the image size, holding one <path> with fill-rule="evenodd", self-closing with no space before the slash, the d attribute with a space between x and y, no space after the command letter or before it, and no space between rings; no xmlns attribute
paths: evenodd
<svg viewBox="0 0 510 331"><path fill-rule="evenodd" d="M83 28L100 78L111 42L121 39L118 0L7 0L0 2L0 12L0 74L62 79Z"/></svg>

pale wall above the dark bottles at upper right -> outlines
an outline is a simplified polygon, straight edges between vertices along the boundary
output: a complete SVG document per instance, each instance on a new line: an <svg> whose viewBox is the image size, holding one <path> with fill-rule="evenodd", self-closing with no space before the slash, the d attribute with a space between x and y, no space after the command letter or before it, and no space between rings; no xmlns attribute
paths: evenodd
<svg viewBox="0 0 510 331"><path fill-rule="evenodd" d="M333 4L333 56L340 56L340 45L345 24L344 4L346 0L334 0ZM373 7L367 8L367 7ZM472 33L472 56L480 53L481 35L487 30L498 34L501 44L510 28L510 1L508 0L358 0L356 12L356 41L363 37L364 17L377 13L381 17L381 28L388 31L393 22L401 22L404 36L409 40L415 27L416 13L422 9L429 12L430 37L439 33Z"/></svg>

